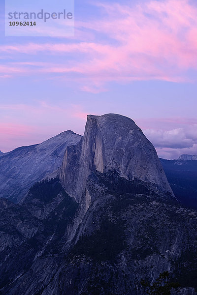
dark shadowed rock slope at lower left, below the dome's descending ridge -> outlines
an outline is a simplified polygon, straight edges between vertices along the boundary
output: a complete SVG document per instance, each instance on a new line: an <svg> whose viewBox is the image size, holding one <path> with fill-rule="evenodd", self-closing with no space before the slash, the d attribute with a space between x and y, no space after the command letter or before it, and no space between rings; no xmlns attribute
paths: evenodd
<svg viewBox="0 0 197 295"><path fill-rule="evenodd" d="M0 199L1 295L39 294L40 286L48 284L63 257L62 248L77 207L57 178L33 185L23 206ZM28 284L25 277L31 280L30 273L38 275L34 277L38 286L24 288Z"/></svg>

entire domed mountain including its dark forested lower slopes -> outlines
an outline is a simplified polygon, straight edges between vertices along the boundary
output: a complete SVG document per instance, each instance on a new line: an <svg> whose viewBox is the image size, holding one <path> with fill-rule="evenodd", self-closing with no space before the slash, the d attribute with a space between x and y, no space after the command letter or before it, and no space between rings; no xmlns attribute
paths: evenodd
<svg viewBox="0 0 197 295"><path fill-rule="evenodd" d="M166 294L197 295L197 211L174 197L141 129L89 115L74 138L20 204L0 199L0 294L146 295L142 282L167 271Z"/></svg>

